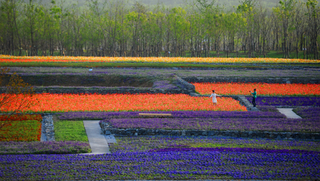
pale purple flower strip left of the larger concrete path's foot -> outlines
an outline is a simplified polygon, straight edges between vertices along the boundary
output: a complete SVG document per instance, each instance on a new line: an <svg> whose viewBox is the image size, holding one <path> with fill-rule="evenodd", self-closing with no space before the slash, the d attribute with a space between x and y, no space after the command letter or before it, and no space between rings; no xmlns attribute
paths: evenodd
<svg viewBox="0 0 320 181"><path fill-rule="evenodd" d="M0 155L74 154L91 152L87 142L0 142Z"/></svg>

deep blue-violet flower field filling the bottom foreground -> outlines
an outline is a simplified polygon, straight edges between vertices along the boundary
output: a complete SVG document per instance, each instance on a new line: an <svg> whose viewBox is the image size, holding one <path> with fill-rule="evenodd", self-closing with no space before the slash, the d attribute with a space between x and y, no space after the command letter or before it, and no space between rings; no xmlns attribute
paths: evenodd
<svg viewBox="0 0 320 181"><path fill-rule="evenodd" d="M287 179L320 177L319 154L239 151L1 155L1 180ZM19 170L19 171L17 171Z"/></svg>

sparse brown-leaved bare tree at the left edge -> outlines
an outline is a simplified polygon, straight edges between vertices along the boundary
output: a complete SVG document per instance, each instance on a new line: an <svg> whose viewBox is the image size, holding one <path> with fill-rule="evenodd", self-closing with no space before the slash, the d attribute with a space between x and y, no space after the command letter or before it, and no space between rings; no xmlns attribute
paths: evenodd
<svg viewBox="0 0 320 181"><path fill-rule="evenodd" d="M7 116L1 120L0 129L11 125L10 117L17 113L23 113L25 109L34 105L32 96L33 87L24 82L16 73L8 74L10 69L0 70L0 84L3 94L0 94L0 112Z"/></svg>

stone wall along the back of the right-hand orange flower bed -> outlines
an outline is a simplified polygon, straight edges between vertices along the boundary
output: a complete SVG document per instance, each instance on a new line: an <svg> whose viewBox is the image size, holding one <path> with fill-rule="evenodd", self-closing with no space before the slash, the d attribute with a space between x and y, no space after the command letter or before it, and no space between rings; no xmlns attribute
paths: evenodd
<svg viewBox="0 0 320 181"><path fill-rule="evenodd" d="M316 78L181 77L188 82L320 83Z"/></svg>

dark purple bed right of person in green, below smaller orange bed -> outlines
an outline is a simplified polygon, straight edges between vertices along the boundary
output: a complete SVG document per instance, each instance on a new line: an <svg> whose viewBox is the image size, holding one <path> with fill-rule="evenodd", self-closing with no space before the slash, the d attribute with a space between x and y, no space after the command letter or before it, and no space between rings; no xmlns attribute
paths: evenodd
<svg viewBox="0 0 320 181"><path fill-rule="evenodd" d="M252 102L252 97L246 97ZM256 99L259 106L320 106L320 97L263 97Z"/></svg>

